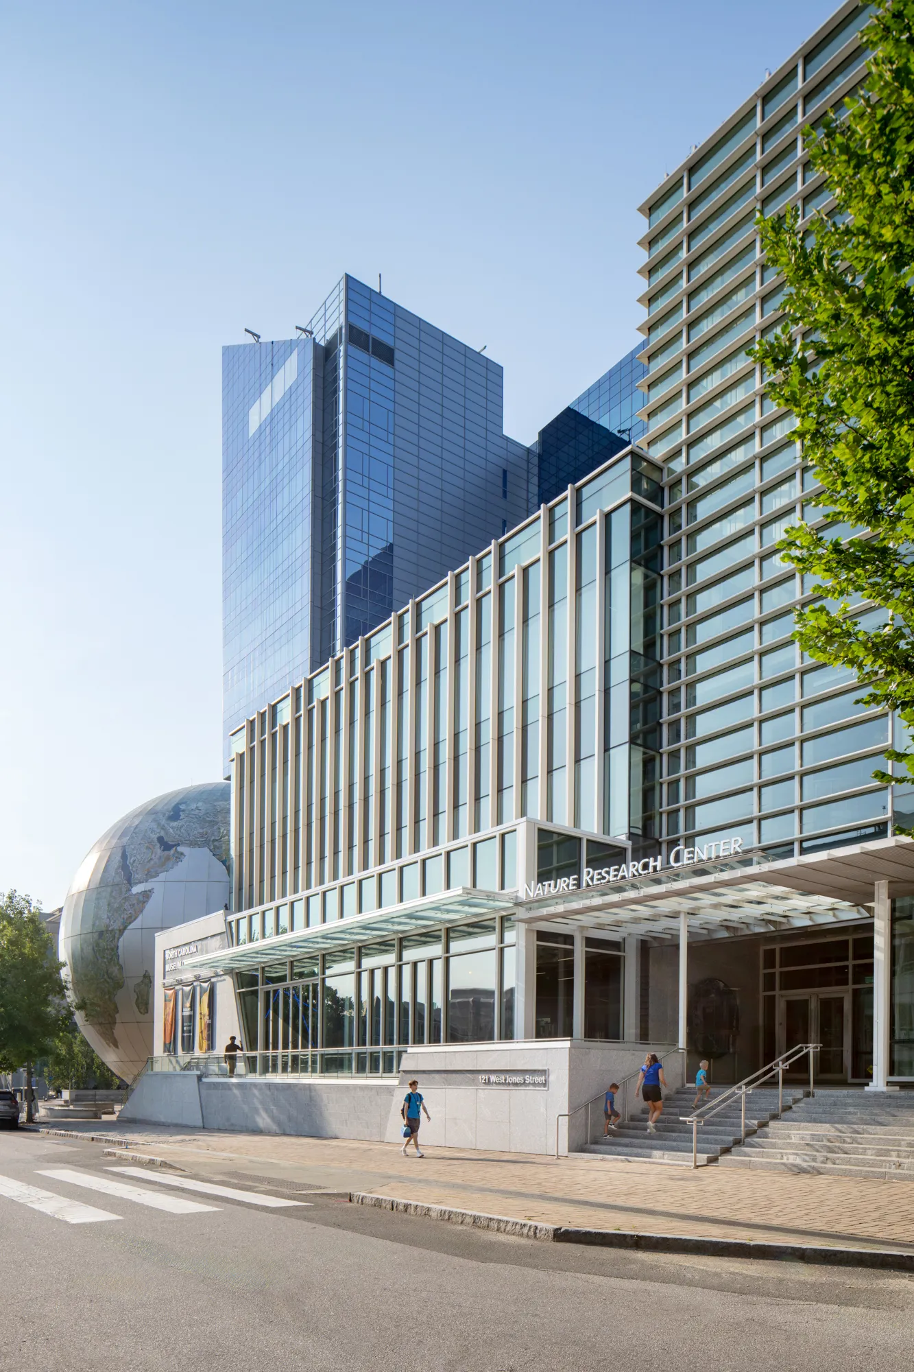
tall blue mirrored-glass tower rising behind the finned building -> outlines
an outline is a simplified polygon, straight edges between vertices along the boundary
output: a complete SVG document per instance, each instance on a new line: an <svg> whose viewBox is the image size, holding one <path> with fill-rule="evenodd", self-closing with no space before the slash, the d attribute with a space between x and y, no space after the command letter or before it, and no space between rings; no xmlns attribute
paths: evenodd
<svg viewBox="0 0 914 1372"><path fill-rule="evenodd" d="M222 353L225 735L535 499L502 369L350 276Z"/></svg>

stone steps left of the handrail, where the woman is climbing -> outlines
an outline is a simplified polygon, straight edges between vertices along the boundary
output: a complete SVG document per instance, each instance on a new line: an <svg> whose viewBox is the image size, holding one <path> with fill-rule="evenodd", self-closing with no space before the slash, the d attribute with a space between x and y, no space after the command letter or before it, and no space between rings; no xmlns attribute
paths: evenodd
<svg viewBox="0 0 914 1372"><path fill-rule="evenodd" d="M711 1099L720 1096L727 1088L719 1087L711 1092ZM784 1109L789 1110L803 1099L799 1088L784 1088ZM616 1133L609 1133L597 1143L587 1144L582 1152L596 1152L607 1158L626 1158L633 1162L678 1162L692 1165L692 1125L679 1117L692 1114L694 1085L682 1087L664 1096L663 1114L657 1121L656 1133L648 1133L648 1110L641 1107L630 1120L620 1124ZM747 1135L767 1125L777 1114L778 1092L759 1088L745 1100ZM733 1099L719 1114L699 1126L699 1166L716 1162L718 1158L741 1137L740 1100Z"/></svg>

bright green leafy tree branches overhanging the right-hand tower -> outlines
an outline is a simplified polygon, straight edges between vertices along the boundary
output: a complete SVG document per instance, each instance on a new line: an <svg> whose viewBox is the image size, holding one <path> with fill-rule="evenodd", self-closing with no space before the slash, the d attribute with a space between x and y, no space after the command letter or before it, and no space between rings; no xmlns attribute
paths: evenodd
<svg viewBox="0 0 914 1372"><path fill-rule="evenodd" d="M786 561L818 578L833 605L796 615L811 657L849 668L866 704L896 711L907 748L887 757L914 777L914 0L893 0L862 32L865 92L806 147L836 206L806 229L799 210L760 218L769 265L786 279L786 321L752 355L766 390L796 416L804 461L834 519L869 530L786 530ZM821 517L821 516L818 516ZM884 623L848 605L874 601ZM896 740L898 741L898 740ZM885 772L874 774L892 781Z"/></svg>

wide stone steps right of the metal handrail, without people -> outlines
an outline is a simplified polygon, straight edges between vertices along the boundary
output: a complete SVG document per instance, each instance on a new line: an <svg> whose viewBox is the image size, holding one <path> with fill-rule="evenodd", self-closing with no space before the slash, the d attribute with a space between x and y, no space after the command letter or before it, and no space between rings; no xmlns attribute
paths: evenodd
<svg viewBox="0 0 914 1372"><path fill-rule="evenodd" d="M720 1166L914 1181L914 1091L818 1089Z"/></svg>

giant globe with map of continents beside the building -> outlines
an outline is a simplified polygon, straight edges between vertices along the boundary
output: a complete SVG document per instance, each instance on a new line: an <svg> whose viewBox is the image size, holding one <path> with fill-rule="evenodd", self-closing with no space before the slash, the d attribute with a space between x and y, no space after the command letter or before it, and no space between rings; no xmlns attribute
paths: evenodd
<svg viewBox="0 0 914 1372"><path fill-rule="evenodd" d="M60 960L80 1029L130 1081L152 1055L155 936L229 899L229 783L137 805L99 838L63 903Z"/></svg>

